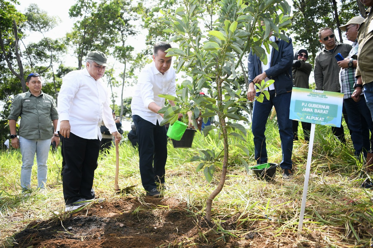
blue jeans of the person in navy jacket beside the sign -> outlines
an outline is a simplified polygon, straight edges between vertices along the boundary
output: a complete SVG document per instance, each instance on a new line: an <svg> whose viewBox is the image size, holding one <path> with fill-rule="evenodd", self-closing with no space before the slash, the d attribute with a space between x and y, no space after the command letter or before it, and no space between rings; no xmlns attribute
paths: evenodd
<svg viewBox="0 0 373 248"><path fill-rule="evenodd" d="M291 92L276 96L275 94L275 90L269 90L269 100L264 97L263 102L254 102L251 128L254 135L255 159L257 164L268 162L264 131L266 131L266 123L272 106L275 106L282 149L280 167L282 169L292 169L293 131L292 122L289 119ZM258 95L259 93L257 93Z"/></svg>

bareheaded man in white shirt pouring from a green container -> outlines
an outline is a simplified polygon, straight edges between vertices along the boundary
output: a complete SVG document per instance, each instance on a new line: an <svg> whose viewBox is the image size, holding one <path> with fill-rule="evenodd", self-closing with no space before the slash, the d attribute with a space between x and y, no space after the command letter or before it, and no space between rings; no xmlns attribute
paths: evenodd
<svg viewBox="0 0 373 248"><path fill-rule="evenodd" d="M163 114L158 113L165 99L160 94L176 96L176 74L171 66L172 57L166 57L166 42L153 48L153 61L141 70L131 102L132 119L138 138L141 183L146 195L162 196L167 160L166 127L159 124ZM174 102L169 101L172 106ZM159 186L157 188L157 186Z"/></svg>

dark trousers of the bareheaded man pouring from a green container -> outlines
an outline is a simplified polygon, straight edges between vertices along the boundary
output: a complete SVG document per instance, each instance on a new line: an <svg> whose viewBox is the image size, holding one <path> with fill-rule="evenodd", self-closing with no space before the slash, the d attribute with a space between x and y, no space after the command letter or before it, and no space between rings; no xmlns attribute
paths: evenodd
<svg viewBox="0 0 373 248"><path fill-rule="evenodd" d="M136 125L138 138L140 175L146 191L157 188L156 183L164 183L167 160L166 127L144 120L138 115L132 119Z"/></svg>

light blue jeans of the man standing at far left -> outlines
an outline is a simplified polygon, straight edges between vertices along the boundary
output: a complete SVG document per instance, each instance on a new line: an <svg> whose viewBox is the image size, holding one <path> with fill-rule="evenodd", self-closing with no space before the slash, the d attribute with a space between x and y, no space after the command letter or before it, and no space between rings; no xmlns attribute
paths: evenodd
<svg viewBox="0 0 373 248"><path fill-rule="evenodd" d="M38 165L38 187L44 188L47 184L49 147L50 139L40 140L19 137L19 148L22 154L21 187L23 190L31 188L31 170L32 165L34 165L35 153Z"/></svg>

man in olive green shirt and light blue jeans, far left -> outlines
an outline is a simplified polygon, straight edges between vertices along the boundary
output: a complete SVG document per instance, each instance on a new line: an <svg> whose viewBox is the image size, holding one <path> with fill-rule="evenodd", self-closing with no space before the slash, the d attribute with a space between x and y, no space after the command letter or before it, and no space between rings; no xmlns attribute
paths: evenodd
<svg viewBox="0 0 373 248"><path fill-rule="evenodd" d="M47 183L47 159L50 143L56 142L57 146L60 139L57 134L54 134L58 121L56 102L52 96L41 91L40 75L38 73L29 74L26 86L29 91L16 95L8 120L12 147L20 148L22 154L22 192L29 194L35 153L38 163L38 188L44 188ZM21 117L19 139L16 133L18 117Z"/></svg>

